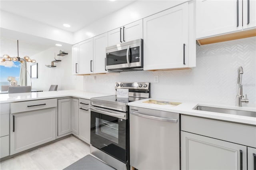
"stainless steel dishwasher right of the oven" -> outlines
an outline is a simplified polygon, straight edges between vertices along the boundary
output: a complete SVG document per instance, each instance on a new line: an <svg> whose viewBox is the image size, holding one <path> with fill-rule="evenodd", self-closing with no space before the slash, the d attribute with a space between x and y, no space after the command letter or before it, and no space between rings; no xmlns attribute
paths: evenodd
<svg viewBox="0 0 256 170"><path fill-rule="evenodd" d="M130 107L130 166L138 170L180 169L179 114Z"/></svg>

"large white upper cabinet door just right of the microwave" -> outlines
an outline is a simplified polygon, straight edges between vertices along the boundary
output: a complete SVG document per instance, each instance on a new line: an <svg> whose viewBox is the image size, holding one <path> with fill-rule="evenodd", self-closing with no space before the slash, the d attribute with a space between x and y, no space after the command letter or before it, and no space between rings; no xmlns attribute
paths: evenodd
<svg viewBox="0 0 256 170"><path fill-rule="evenodd" d="M143 39L144 70L188 67L188 3L144 18Z"/></svg>

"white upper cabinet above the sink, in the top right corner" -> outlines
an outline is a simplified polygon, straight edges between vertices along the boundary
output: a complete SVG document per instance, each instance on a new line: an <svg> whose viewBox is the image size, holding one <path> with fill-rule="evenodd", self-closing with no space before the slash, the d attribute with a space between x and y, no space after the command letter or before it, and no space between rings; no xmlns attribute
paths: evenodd
<svg viewBox="0 0 256 170"><path fill-rule="evenodd" d="M255 0L196 1L196 39L255 27L255 9Z"/></svg>

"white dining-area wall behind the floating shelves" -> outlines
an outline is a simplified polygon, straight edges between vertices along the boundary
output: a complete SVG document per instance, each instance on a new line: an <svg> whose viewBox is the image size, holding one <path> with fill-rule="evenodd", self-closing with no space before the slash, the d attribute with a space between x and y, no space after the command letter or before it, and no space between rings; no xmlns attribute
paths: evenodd
<svg viewBox="0 0 256 170"><path fill-rule="evenodd" d="M38 63L38 79L32 79L32 88L48 91L50 85L57 84L58 90L70 90L78 89L83 90L83 76L72 75L72 49L65 51L68 55L57 56L60 48L52 47L45 51L42 51L36 55L30 56L32 59L36 59ZM55 63L57 67L47 68L45 65L51 65L51 61L54 60L54 53L56 53L56 59L62 61ZM30 73L30 63L27 64L28 71ZM75 79L76 78L76 79ZM30 85L30 79L27 79L28 85Z"/></svg>

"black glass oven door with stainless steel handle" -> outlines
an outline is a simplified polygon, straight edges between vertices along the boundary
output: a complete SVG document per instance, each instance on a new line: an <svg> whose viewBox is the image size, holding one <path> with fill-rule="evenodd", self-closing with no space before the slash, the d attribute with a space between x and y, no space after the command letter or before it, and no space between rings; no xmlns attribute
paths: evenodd
<svg viewBox="0 0 256 170"><path fill-rule="evenodd" d="M91 107L91 144L106 154L126 163L126 114Z"/></svg>

